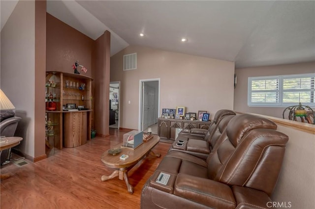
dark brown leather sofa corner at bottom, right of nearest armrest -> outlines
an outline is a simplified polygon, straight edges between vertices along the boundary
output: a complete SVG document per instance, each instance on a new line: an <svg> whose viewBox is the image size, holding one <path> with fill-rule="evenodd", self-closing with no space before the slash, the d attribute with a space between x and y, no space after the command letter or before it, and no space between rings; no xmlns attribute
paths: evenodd
<svg viewBox="0 0 315 209"><path fill-rule="evenodd" d="M232 191L238 209L272 208L271 199L263 191L244 186L232 186Z"/></svg>

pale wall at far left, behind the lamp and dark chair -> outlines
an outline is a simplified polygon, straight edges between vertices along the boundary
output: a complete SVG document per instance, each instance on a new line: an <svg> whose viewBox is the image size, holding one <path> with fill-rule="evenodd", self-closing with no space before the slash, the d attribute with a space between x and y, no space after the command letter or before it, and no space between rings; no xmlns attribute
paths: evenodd
<svg viewBox="0 0 315 209"><path fill-rule="evenodd" d="M35 3L19 1L1 30L0 87L22 116L17 147L34 157Z"/></svg>

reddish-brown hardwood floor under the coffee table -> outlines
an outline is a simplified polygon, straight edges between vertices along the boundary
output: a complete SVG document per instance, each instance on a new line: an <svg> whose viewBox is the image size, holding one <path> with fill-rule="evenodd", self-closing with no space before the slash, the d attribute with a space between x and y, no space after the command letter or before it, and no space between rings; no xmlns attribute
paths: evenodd
<svg viewBox="0 0 315 209"><path fill-rule="evenodd" d="M110 129L108 137L95 137L83 146L63 148L44 160L28 161L21 167L12 162L1 166L1 174L11 175L0 183L1 209L140 208L142 186L170 144L159 142L153 151L161 157L150 155L128 172L129 182L134 187L131 195L125 181L118 177L106 182L100 180L102 175L113 171L102 164L102 153L121 143L124 133Z"/></svg>

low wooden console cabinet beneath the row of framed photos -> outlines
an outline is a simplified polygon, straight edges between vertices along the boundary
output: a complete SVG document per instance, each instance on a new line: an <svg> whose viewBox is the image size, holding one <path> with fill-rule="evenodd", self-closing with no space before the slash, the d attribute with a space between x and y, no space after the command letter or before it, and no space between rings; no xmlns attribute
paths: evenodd
<svg viewBox="0 0 315 209"><path fill-rule="evenodd" d="M180 120L158 118L158 136L161 139L175 140L176 129L209 129L211 121Z"/></svg>

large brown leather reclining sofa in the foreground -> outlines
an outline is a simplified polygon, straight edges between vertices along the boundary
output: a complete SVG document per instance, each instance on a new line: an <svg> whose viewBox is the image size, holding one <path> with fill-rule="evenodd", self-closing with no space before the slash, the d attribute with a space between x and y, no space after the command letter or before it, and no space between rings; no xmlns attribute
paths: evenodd
<svg viewBox="0 0 315 209"><path fill-rule="evenodd" d="M171 146L143 186L142 209L268 208L288 137L263 117L227 114L217 119L207 140L179 135L187 139L186 150ZM200 144L189 148L197 140ZM206 146L206 159L198 157Z"/></svg>

